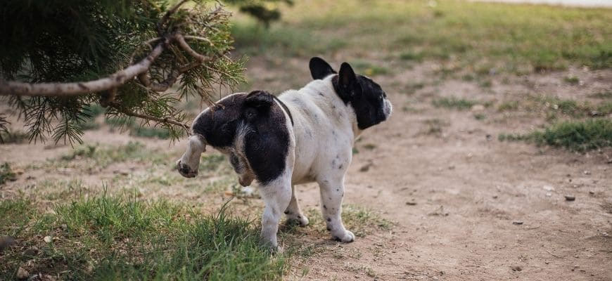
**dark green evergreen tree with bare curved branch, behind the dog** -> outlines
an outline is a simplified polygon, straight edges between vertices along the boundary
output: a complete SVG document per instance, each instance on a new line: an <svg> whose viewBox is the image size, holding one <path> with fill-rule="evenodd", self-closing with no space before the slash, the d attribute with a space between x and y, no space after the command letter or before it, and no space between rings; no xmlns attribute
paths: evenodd
<svg viewBox="0 0 612 281"><path fill-rule="evenodd" d="M229 13L215 1L186 2L1 1L0 99L34 142L81 142L96 103L107 117L141 118L178 138L188 127L177 103L210 103L219 86L242 81L245 63L228 55Z"/></svg>

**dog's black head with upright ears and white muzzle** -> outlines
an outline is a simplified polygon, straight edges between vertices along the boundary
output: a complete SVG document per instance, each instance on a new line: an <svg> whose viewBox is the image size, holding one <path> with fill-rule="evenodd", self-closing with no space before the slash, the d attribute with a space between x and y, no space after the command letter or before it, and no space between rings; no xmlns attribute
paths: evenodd
<svg viewBox="0 0 612 281"><path fill-rule="evenodd" d="M371 78L355 74L348 63L340 65L336 71L321 58L310 59L310 74L313 79L324 79L335 75L331 81L333 88L345 104L352 106L357 115L357 127L366 129L389 118L393 107L387 94Z"/></svg>

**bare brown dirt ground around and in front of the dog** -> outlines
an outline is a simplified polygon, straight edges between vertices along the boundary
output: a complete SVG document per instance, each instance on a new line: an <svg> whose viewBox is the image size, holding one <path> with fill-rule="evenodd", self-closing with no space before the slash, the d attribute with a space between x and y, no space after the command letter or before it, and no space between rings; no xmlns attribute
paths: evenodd
<svg viewBox="0 0 612 281"><path fill-rule="evenodd" d="M307 60L278 67L255 58L248 68L252 89L279 92L310 80ZM456 96L497 105L528 94L592 100L592 93L612 89L612 71L497 74L490 78L490 87L482 87L476 81L440 78L436 70L435 63L422 63L374 77L395 109L388 122L365 131L357 141L359 152L348 171L345 203L373 209L393 221L393 227L374 230L350 244L332 242L327 235L301 236L298 243L323 250L297 261L286 279L612 280L612 150L578 154L500 142L499 133L530 131L545 121L538 112L498 112L495 106L461 111L431 103L433 98ZM564 82L568 75L582 82ZM410 88L415 83L423 86ZM485 119L476 119L476 113ZM432 119L441 124L433 133L427 122ZM99 143L132 139L109 133L106 127L86 135L87 141ZM183 142L169 148L167 141L139 141L177 155L184 149ZM0 162L27 166L68 150L0 145ZM27 183L44 178L84 177L99 185L117 169L147 166L122 165L89 175L27 170L18 181L0 187L0 195L15 196ZM566 195L575 200L566 200ZM181 186L145 196L200 200ZM314 184L299 186L298 198L303 209L319 206ZM307 228L302 231L307 233Z"/></svg>

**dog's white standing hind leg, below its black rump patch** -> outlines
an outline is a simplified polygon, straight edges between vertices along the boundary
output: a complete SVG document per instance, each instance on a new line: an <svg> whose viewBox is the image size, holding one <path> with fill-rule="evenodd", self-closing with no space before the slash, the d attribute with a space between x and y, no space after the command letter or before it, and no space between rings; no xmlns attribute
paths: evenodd
<svg viewBox="0 0 612 281"><path fill-rule="evenodd" d="M291 200L291 174L283 175L267 185L261 185L260 193L266 204L262 215L262 244L282 251L276 240L276 232L279 230L283 211Z"/></svg>

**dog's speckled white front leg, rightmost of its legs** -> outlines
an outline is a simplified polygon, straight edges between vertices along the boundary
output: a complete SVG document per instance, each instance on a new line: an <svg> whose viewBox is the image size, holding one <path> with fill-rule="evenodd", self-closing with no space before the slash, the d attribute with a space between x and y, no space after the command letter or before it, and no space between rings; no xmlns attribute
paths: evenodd
<svg viewBox="0 0 612 281"><path fill-rule="evenodd" d="M342 223L342 200L344 197L344 177L331 176L319 181L321 192L321 211L327 224L327 230L334 240L342 242L355 241L355 235L346 230Z"/></svg>

